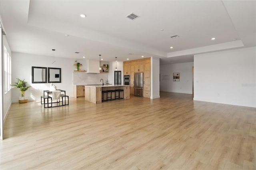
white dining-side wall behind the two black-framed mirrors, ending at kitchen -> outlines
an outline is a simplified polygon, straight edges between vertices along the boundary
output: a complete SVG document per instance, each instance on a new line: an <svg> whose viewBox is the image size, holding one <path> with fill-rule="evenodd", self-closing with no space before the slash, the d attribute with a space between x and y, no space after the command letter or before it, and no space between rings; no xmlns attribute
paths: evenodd
<svg viewBox="0 0 256 170"><path fill-rule="evenodd" d="M12 83L16 78L25 79L32 86L25 92L29 101L40 101L43 90L49 89L50 83L32 83L32 66L61 68L61 83L54 83L57 89L66 90L66 94L73 97L72 74L75 66L74 59L55 57L56 62L52 64L52 57L33 55L27 53L12 53ZM18 102L20 92L17 88L12 89L12 101Z"/></svg>

